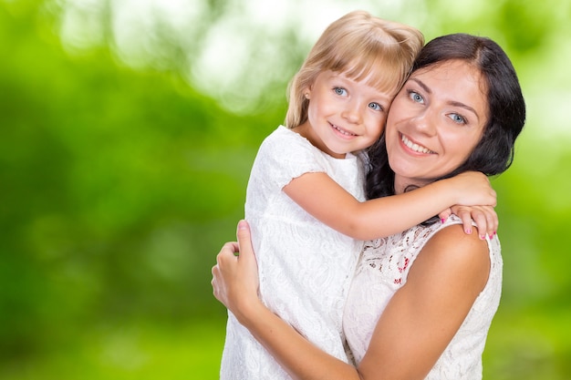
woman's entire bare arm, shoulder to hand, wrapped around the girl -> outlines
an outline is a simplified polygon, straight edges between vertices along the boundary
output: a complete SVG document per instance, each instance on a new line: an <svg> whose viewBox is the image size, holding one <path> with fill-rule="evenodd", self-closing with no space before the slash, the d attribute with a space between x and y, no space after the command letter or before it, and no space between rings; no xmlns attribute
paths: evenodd
<svg viewBox="0 0 571 380"><path fill-rule="evenodd" d="M389 301L356 369L309 343L265 308L256 293L257 269L244 221L238 241L226 243L218 254L214 296L295 379L424 378L460 328L490 271L486 241L464 234L460 225L439 231Z"/></svg>

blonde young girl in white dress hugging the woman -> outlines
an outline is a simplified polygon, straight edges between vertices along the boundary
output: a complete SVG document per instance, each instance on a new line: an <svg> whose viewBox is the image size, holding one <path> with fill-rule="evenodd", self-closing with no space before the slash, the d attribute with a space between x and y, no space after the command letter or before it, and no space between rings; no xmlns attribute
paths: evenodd
<svg viewBox="0 0 571 380"><path fill-rule="evenodd" d="M367 159L358 152L379 139L422 44L418 30L366 12L328 26L293 78L285 127L263 142L248 183L245 218L262 300L345 362L342 313L362 240L404 231L452 205L495 205L489 181L473 172L364 201ZM408 139L401 144L429 153ZM496 222L478 225L493 233ZM470 232L471 221L465 226ZM229 313L221 379L265 378L289 377Z"/></svg>

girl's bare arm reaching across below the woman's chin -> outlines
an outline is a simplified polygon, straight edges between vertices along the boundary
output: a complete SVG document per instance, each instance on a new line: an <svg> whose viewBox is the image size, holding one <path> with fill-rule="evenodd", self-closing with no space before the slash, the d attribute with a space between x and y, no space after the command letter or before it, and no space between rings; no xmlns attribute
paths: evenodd
<svg viewBox="0 0 571 380"><path fill-rule="evenodd" d="M466 172L404 194L360 202L326 173L306 173L284 187L285 194L317 220L354 239L371 240L405 231L453 205L495 206L496 194L480 172ZM470 213L468 214L470 215ZM497 230L495 212L474 218L481 238ZM462 217L464 231L472 221Z"/></svg>

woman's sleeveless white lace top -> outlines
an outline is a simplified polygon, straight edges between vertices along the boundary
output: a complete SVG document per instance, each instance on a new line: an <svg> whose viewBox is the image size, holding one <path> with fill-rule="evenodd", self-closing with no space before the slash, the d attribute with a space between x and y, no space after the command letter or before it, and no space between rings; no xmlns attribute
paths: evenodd
<svg viewBox="0 0 571 380"><path fill-rule="evenodd" d="M343 318L343 329L356 363L367 351L379 315L392 295L407 282L410 267L424 244L434 233L452 223L462 221L452 215L444 224L416 226L389 238L365 243ZM488 240L488 247L491 261L488 282L426 379L482 378L483 347L502 292L503 262L497 236Z"/></svg>

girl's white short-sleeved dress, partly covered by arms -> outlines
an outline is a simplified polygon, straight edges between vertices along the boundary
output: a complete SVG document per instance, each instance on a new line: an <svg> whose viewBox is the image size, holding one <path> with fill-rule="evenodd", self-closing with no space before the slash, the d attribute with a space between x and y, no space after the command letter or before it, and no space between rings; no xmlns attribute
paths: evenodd
<svg viewBox="0 0 571 380"><path fill-rule="evenodd" d="M287 197L283 188L304 173L326 172L358 200L364 200L363 167L358 155L334 159L280 126L258 151L245 202L262 300L308 340L345 362L343 309L362 241L317 221ZM289 378L229 313L221 379Z"/></svg>

